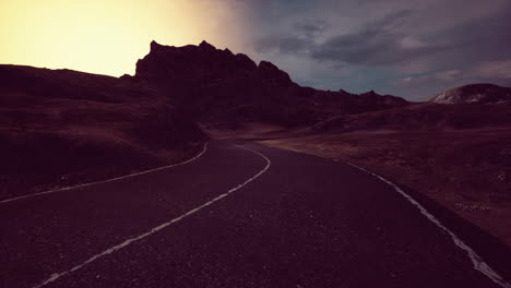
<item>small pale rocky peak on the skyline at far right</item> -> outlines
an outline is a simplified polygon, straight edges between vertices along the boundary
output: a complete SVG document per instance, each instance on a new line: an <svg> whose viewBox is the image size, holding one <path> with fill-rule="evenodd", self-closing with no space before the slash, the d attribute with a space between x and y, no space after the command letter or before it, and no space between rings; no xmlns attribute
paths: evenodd
<svg viewBox="0 0 511 288"><path fill-rule="evenodd" d="M494 84L470 84L435 96L438 104L511 104L511 87Z"/></svg>

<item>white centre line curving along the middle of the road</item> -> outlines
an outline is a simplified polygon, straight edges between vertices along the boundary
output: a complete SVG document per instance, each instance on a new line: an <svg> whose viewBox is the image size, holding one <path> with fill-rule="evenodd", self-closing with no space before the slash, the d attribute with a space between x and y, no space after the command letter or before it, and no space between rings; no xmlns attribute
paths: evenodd
<svg viewBox="0 0 511 288"><path fill-rule="evenodd" d="M147 232L145 232L145 233L143 233L143 235L140 235L140 236L130 238L130 239L126 240L124 242L122 242L122 243L120 243L120 244L118 244L118 245L115 245L115 247L112 247L112 248L109 248L109 249L103 251L102 253L96 254L96 255L90 257L88 260L84 261L82 264L72 267L72 268L69 269L69 271L61 272L61 273L55 273L55 274L50 275L50 276L48 277L48 279L46 279L46 280L41 281L40 284L34 286L34 288L39 288L39 287L46 286L47 284L52 283L52 281L57 280L58 278L60 278L60 277L62 277L62 276L64 276L64 275L67 275L67 274L69 274L69 273L72 273L72 272L74 272L74 271L78 271L78 269L82 268L83 266L85 266L85 265L87 265L87 264L90 264L90 263L92 263L92 262L98 260L99 257L103 257L103 256L106 256L106 255L108 255L108 254L111 254L111 253L114 253L114 252L116 252L116 251L118 251L118 250L120 250L120 249L122 249L122 248L124 248L124 247L127 247L127 245L129 245L129 244L135 242L135 241L139 241L139 240L141 240L141 239L143 239L143 238L145 238L145 237L147 237L147 236L151 236L151 235L153 235L153 233L155 233L155 232L157 232L157 231L159 231L159 230L162 230L162 229L164 229L164 228L166 228L166 227L168 227L168 226L170 226L170 225L173 225L173 224L175 224L175 223L177 223L177 221L183 219L185 217L188 217L188 216L190 216L190 215L192 215L192 214L199 212L200 209L202 209L202 208L204 208L204 207L207 207L207 206L212 205L212 204L215 203L216 201L222 200L222 199L228 196L228 195L231 194L233 192L235 192L235 191L241 189L241 188L245 187L246 184L248 184L248 183L252 182L253 180L255 180L258 177L260 177L262 173L264 173L264 172L270 168L270 166L272 165L272 161L271 161L266 156L264 156L263 154L261 154L261 153L259 153L259 152L257 152L257 151L252 151L252 149L249 149L249 148L239 146L239 145L237 145L237 146L240 147L240 148L243 148L243 149L247 149L247 151L250 151L250 152L252 152L252 153L258 154L259 156L261 156L262 158L264 158L264 160L266 160L266 166L265 166L261 171L259 171L257 175L252 176L250 179L248 179L247 181L242 182L241 184L239 184L239 185L237 185L237 187L230 189L230 190L227 191L226 193L221 194L221 195L214 197L213 200L211 200L211 201L209 201L209 202L206 202L206 203L200 205L200 206L197 207L197 208L193 208L193 209L191 209L191 211L189 211L189 212L182 214L181 216L179 216L179 217L177 217L177 218L174 218L174 219L171 219L171 220L169 220L169 221L167 221L167 223L164 223L164 224L162 224L162 225L155 227L155 228L151 229L150 231L147 231Z"/></svg>

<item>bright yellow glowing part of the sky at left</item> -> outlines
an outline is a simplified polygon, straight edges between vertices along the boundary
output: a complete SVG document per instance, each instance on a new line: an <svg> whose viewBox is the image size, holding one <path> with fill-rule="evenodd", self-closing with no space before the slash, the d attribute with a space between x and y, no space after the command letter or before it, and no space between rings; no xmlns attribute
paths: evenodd
<svg viewBox="0 0 511 288"><path fill-rule="evenodd" d="M0 63L133 73L151 40L203 39L236 47L237 21L222 2L188 0L0 0Z"/></svg>

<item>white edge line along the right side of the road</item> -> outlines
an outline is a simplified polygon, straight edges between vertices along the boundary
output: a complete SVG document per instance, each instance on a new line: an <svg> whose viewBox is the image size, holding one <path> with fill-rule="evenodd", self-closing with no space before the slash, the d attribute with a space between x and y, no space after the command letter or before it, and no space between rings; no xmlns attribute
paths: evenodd
<svg viewBox="0 0 511 288"><path fill-rule="evenodd" d="M411 202L414 206L416 206L420 213L426 216L426 218L428 218L430 221L432 221L438 228L442 229L443 231L445 231L452 239L452 241L454 242L454 244L456 247L459 247L460 249L464 250L467 254L467 256L471 259L472 261L472 264L474 265L474 269L483 273L484 275L486 275L486 277L490 278L494 283L500 285L501 287L504 287L504 288L511 288L511 284L507 283L506 279L502 278L502 276L500 276L497 272L495 272L472 248L470 248L467 244L465 244L465 242L463 242L463 240L461 240L454 232L452 232L451 230L449 230L449 228L447 228L445 226L443 226L443 224L437 218L435 217L433 215L431 215L423 205L420 205L415 199L413 199L411 195L408 195L406 192L404 192L401 188L399 188L396 184L392 183L391 181L387 180L385 178L377 175L377 173L373 173L369 170L366 170L365 168L361 168L355 164L352 164L352 163L347 163L349 166L352 167L355 167L359 170L363 170L378 179L380 179L381 181L385 182L387 184L391 185L392 188L394 188L395 191L397 191L397 193L400 193L401 195L403 195L408 202Z"/></svg>

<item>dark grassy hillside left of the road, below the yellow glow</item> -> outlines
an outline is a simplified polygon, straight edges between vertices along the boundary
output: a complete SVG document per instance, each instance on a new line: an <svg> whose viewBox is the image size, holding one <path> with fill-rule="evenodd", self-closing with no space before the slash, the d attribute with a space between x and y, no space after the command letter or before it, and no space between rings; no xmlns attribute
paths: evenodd
<svg viewBox="0 0 511 288"><path fill-rule="evenodd" d="M204 140L147 83L0 65L0 199L158 167Z"/></svg>

